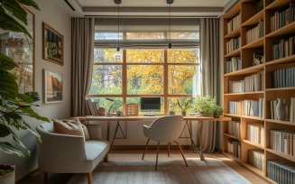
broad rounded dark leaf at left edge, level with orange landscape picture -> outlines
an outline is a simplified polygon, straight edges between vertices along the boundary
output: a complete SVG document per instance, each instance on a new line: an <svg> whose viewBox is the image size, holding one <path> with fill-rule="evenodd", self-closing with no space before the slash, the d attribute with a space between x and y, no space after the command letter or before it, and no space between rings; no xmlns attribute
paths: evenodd
<svg viewBox="0 0 295 184"><path fill-rule="evenodd" d="M0 95L4 97L16 97L18 85L9 74L0 73Z"/></svg>

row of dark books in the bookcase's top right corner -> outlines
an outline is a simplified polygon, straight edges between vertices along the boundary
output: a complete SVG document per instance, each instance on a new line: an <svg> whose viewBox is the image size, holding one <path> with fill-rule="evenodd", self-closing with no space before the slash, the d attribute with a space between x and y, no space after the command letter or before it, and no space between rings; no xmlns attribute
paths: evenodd
<svg viewBox="0 0 295 184"><path fill-rule="evenodd" d="M275 12L271 17L271 32L294 22L295 20L295 3L290 3L289 7L281 12Z"/></svg>

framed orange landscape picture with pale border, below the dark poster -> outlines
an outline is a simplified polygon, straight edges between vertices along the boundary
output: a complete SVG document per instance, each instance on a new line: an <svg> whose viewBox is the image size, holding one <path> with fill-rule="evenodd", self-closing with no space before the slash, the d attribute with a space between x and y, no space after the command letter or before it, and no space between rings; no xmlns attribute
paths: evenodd
<svg viewBox="0 0 295 184"><path fill-rule="evenodd" d="M62 102L63 76L62 74L43 69L44 73L44 103Z"/></svg>

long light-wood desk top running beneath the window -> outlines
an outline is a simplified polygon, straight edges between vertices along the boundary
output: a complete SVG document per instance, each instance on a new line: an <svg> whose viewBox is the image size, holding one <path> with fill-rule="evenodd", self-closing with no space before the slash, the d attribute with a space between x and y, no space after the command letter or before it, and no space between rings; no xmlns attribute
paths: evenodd
<svg viewBox="0 0 295 184"><path fill-rule="evenodd" d="M112 116L99 116L99 115L86 115L78 116L80 121L153 121L158 117L164 115L155 115L155 116L143 116L143 115L112 115ZM186 115L183 116L183 120L189 121L231 121L232 118L226 116L207 117L207 116L198 116L198 115Z"/></svg>

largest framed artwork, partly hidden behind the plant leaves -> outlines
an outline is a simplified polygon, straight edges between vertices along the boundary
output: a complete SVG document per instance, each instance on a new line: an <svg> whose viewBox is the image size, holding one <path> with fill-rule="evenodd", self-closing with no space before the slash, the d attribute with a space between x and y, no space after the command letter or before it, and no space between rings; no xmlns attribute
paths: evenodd
<svg viewBox="0 0 295 184"><path fill-rule="evenodd" d="M24 10L27 13L27 24L21 24L30 33L31 38L23 32L0 29L0 53L5 54L17 64L17 67L9 72L16 77L19 93L34 91L35 15L26 8Z"/></svg>

